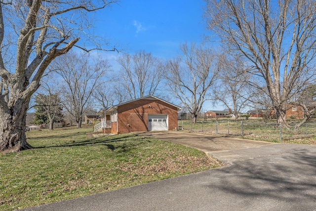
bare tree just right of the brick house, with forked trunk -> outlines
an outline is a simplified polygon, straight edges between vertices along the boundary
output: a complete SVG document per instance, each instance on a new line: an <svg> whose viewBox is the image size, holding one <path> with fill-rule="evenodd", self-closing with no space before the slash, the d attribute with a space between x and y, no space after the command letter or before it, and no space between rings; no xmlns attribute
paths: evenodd
<svg viewBox="0 0 316 211"><path fill-rule="evenodd" d="M180 49L183 56L168 61L166 80L172 95L188 108L196 123L208 90L218 76L216 56L202 45L185 43Z"/></svg>

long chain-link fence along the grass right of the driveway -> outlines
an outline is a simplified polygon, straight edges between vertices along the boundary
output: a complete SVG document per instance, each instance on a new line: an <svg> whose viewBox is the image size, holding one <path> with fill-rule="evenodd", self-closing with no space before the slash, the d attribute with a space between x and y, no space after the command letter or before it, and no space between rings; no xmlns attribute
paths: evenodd
<svg viewBox="0 0 316 211"><path fill-rule="evenodd" d="M178 121L178 129L203 132L208 134L237 135L255 139L281 141L286 139L305 138L316 134L316 122L303 124L298 132L294 132L295 124L289 128L279 123L261 123L248 121L210 121L197 122Z"/></svg>

